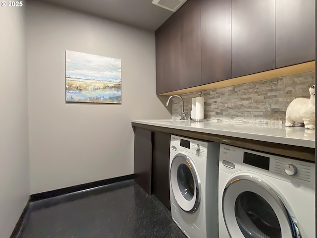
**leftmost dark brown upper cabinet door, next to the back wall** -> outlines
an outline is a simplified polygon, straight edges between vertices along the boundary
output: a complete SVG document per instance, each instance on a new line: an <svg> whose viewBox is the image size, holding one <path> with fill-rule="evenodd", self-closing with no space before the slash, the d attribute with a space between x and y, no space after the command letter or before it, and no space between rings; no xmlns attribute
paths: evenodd
<svg viewBox="0 0 317 238"><path fill-rule="evenodd" d="M157 94L201 84L201 0L188 0L156 31Z"/></svg>

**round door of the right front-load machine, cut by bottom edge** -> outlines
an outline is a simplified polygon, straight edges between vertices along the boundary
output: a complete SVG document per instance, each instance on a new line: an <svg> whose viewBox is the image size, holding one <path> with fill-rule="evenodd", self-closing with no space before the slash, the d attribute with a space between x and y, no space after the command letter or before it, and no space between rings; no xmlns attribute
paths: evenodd
<svg viewBox="0 0 317 238"><path fill-rule="evenodd" d="M279 196L254 176L237 176L227 183L222 212L232 238L297 238L299 235Z"/></svg>

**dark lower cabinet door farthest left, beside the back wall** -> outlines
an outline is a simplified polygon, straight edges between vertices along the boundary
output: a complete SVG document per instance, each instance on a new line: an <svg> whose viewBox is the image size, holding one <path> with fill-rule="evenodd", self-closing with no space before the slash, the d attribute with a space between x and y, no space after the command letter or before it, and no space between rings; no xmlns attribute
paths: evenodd
<svg viewBox="0 0 317 238"><path fill-rule="evenodd" d="M134 180L151 195L152 132L139 127L134 127L134 175Z"/></svg>

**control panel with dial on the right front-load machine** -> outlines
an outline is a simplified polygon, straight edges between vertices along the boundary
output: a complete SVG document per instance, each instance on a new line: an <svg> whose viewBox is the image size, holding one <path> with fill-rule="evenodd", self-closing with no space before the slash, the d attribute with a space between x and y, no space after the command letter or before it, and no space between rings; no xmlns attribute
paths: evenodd
<svg viewBox="0 0 317 238"><path fill-rule="evenodd" d="M250 171L305 187L315 187L315 163L220 144L219 170Z"/></svg>

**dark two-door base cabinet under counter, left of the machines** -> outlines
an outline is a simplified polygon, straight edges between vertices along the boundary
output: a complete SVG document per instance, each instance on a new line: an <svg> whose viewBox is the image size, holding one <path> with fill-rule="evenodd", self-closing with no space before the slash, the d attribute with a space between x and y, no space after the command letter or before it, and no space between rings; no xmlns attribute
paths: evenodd
<svg viewBox="0 0 317 238"><path fill-rule="evenodd" d="M169 210L170 134L134 127L135 181Z"/></svg>

